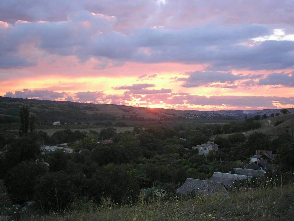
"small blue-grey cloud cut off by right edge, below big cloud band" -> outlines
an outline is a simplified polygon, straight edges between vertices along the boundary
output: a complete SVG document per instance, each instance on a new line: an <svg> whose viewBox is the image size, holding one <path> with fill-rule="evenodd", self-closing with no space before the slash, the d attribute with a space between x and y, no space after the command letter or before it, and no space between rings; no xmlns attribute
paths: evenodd
<svg viewBox="0 0 294 221"><path fill-rule="evenodd" d="M283 85L285 87L294 87L294 72L290 73L272 73L259 79L260 85Z"/></svg>

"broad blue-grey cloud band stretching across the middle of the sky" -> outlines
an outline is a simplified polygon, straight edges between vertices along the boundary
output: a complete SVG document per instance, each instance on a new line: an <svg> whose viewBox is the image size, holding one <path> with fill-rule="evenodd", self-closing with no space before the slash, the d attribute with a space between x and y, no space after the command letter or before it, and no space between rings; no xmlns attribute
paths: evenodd
<svg viewBox="0 0 294 221"><path fill-rule="evenodd" d="M65 21L22 22L0 29L0 53L19 57L16 64L34 65L40 56L24 52L21 46L59 56L76 56L80 62L91 58L99 61L95 69L122 65L126 61L141 63L177 62L207 64L207 70L231 69L276 70L293 67L294 42L264 41L252 38L270 34L263 24L198 25L186 29L140 27L125 34L116 30L115 16L90 13L85 10L69 14ZM4 45L4 46L3 46ZM0 55L1 55L0 54ZM8 59L6 59L8 60ZM3 65L2 65L3 66ZM157 74L139 76L152 79Z"/></svg>

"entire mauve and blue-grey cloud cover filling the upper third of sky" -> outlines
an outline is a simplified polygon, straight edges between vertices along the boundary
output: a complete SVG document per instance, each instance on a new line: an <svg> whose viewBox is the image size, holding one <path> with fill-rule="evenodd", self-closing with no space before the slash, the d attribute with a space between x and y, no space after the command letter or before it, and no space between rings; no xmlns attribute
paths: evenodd
<svg viewBox="0 0 294 221"><path fill-rule="evenodd" d="M36 65L21 45L81 62L94 57L101 61L95 69L126 61L205 63L214 71L290 68L294 42L250 39L271 34L273 27L293 32L293 6L278 0L3 0L0 20L10 25L0 28L0 68Z"/></svg>

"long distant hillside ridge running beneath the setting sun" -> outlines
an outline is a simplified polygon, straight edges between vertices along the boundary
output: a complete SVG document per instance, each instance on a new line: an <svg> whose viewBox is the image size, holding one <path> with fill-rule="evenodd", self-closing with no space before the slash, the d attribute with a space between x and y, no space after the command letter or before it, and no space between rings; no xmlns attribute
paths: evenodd
<svg viewBox="0 0 294 221"><path fill-rule="evenodd" d="M0 96L0 123L19 122L19 109L28 105L36 113L39 123L52 123L64 118L67 123L78 121L139 120L161 121L189 120L192 122L221 123L216 120L236 120L245 115L276 113L279 109L267 110L175 110L163 108L143 108L114 104L92 104L70 101L51 101ZM289 109L290 110L290 109ZM226 122L225 122L226 123Z"/></svg>

